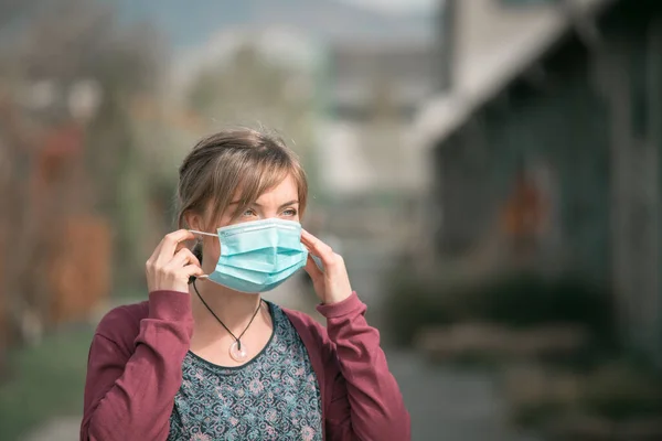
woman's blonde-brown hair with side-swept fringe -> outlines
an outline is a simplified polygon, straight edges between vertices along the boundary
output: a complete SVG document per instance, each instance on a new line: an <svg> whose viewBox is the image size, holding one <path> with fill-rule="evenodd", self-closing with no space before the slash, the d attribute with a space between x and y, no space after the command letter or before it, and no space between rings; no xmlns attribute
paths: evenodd
<svg viewBox="0 0 662 441"><path fill-rule="evenodd" d="M302 214L308 198L306 172L280 137L253 129L224 130L206 137L193 147L179 170L178 226L190 227L185 215L191 212L209 214L205 223L216 222L239 190L235 219L288 175L297 184ZM212 209L206 213L209 207Z"/></svg>

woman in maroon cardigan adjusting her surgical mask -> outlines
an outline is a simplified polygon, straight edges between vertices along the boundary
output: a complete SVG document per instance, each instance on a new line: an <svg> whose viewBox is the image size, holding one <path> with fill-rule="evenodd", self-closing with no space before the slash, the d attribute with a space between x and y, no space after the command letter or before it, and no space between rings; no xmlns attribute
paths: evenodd
<svg viewBox="0 0 662 441"><path fill-rule="evenodd" d="M224 131L193 148L182 229L147 261L149 300L110 311L94 335L81 440L410 438L342 258L301 229L307 192L279 139ZM260 299L300 268L325 329Z"/></svg>

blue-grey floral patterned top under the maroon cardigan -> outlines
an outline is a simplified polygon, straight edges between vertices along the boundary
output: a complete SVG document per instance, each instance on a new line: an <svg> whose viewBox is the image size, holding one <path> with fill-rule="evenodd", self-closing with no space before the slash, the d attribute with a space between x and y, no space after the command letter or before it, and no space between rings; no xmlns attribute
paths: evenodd
<svg viewBox="0 0 662 441"><path fill-rule="evenodd" d="M274 333L245 365L186 354L169 441L322 439L320 389L306 346L282 310L267 304Z"/></svg>

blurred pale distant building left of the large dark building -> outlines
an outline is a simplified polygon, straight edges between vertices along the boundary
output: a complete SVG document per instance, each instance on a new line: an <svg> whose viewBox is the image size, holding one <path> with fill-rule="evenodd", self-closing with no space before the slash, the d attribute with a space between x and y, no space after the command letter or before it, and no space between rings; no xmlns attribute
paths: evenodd
<svg viewBox="0 0 662 441"><path fill-rule="evenodd" d="M329 46L320 137L325 187L362 200L417 189L418 164L405 146L417 106L435 90L433 51L417 40Z"/></svg>

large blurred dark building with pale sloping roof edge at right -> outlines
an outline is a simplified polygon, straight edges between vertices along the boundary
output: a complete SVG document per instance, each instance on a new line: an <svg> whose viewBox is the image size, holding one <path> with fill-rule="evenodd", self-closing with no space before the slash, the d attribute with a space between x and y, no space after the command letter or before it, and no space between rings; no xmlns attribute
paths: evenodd
<svg viewBox="0 0 662 441"><path fill-rule="evenodd" d="M662 362L662 3L447 3L450 78L415 125L430 252L509 234L526 182L537 251L612 287L624 338Z"/></svg>

